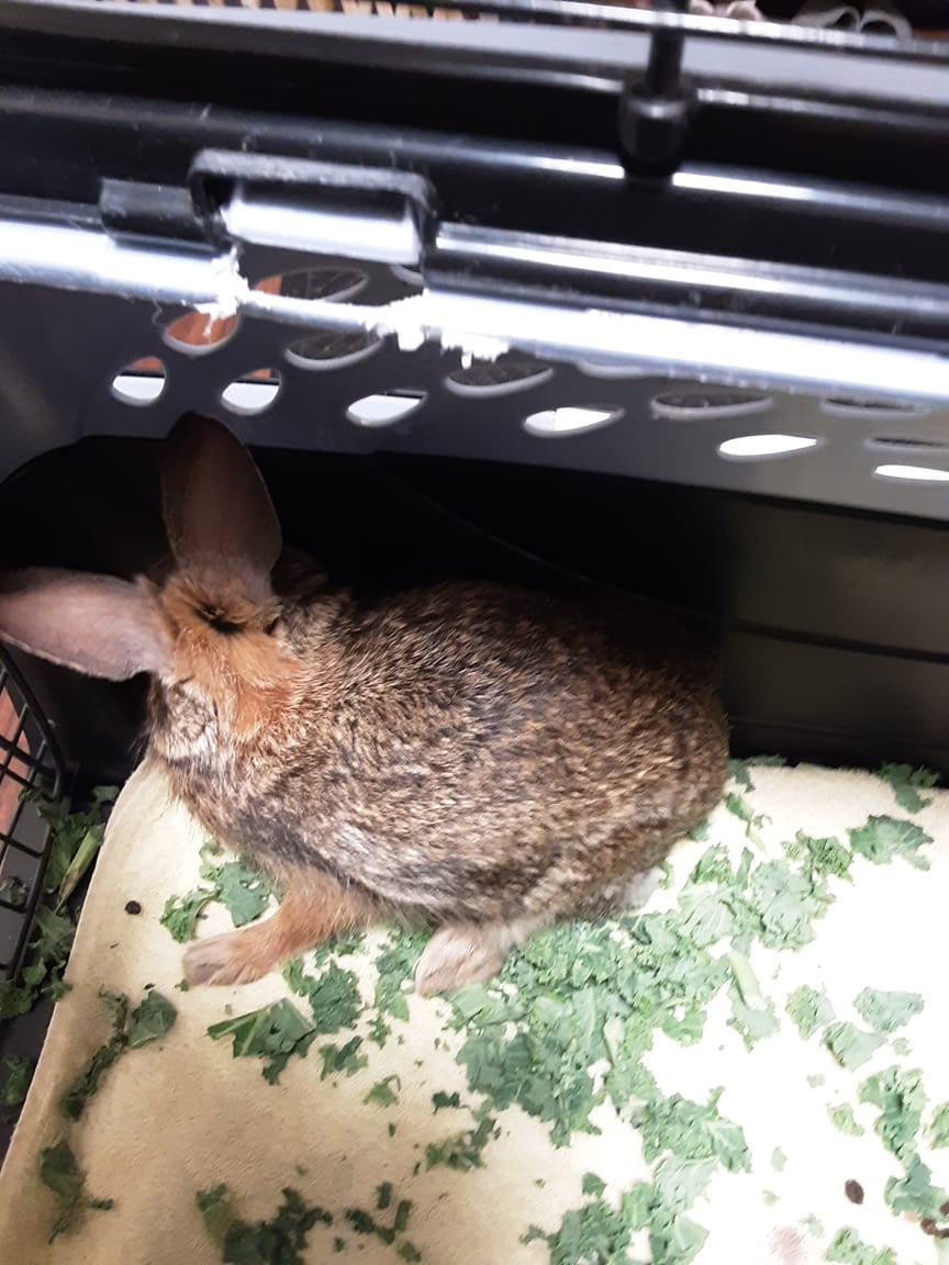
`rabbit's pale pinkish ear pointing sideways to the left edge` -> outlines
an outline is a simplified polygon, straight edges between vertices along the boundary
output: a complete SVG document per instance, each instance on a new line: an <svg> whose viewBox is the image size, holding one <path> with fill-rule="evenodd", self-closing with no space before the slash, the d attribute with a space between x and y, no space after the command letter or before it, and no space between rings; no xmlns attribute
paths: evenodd
<svg viewBox="0 0 949 1265"><path fill-rule="evenodd" d="M89 677L163 676L170 638L144 587L81 572L8 572L0 577L0 639Z"/></svg>

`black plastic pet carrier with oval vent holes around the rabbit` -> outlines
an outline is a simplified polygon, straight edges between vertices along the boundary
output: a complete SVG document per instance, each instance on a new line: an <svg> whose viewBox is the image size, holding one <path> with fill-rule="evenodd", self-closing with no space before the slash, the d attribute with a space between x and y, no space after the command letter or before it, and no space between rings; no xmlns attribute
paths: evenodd
<svg viewBox="0 0 949 1265"><path fill-rule="evenodd" d="M210 411L350 581L620 586L720 624L736 750L948 770L945 46L357 10L0 9L5 564L147 569ZM22 667L4 779L44 713L128 772L138 683Z"/></svg>

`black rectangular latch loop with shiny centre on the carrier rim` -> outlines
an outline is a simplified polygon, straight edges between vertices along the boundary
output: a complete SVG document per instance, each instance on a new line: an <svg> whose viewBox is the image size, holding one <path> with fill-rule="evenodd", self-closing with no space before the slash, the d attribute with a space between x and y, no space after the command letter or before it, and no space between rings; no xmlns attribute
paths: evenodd
<svg viewBox="0 0 949 1265"><path fill-rule="evenodd" d="M218 245L418 267L434 234L435 191L411 172L205 149L189 181Z"/></svg>

